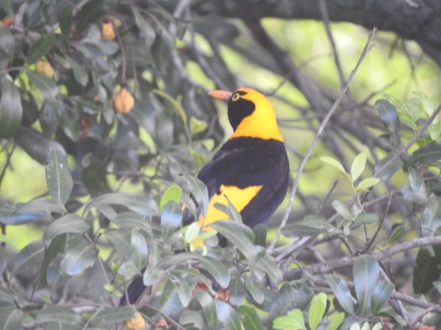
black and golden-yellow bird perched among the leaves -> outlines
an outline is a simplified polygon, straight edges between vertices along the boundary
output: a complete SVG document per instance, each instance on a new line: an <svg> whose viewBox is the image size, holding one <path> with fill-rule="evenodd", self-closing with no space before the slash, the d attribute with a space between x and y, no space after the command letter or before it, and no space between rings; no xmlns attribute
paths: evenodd
<svg viewBox="0 0 441 330"><path fill-rule="evenodd" d="M285 198L289 181L289 160L274 107L266 96L251 88L239 88L234 93L215 90L209 96L227 103L233 133L197 175L209 195L207 214L197 221L209 228L210 223L225 219L225 213L214 204L227 205L228 199L245 225L253 228L267 223ZM183 225L192 221L195 219L189 212L184 214ZM135 303L144 289L143 278L135 278L127 288L129 302ZM126 303L123 296L120 305Z"/></svg>

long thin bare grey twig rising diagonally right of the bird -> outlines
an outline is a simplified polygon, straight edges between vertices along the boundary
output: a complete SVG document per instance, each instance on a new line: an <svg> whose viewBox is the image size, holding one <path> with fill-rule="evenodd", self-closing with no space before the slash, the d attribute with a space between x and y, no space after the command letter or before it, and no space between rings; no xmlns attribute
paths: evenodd
<svg viewBox="0 0 441 330"><path fill-rule="evenodd" d="M347 80L345 88L343 88L343 90L340 92L340 95L336 99L336 102L334 102L334 104L332 105L331 109L327 113L326 117L323 119L322 123L318 127L316 137L314 137L314 140L312 141L311 146L309 146L309 149L308 149L305 157L303 157L302 162L300 163L300 166L298 168L298 172L297 172L297 175L296 175L296 179L294 180L294 184L292 186L291 195L289 197L289 203L288 203L287 210L285 212L285 216L283 217L282 223L280 223L280 226L279 226L279 228L277 230L276 236L274 237L273 241L271 241L271 244L269 245L269 250L273 250L274 249L274 246L276 246L276 243L277 243L277 241L278 241L278 239L280 237L282 228L285 227L285 225L287 223L287 220L288 220L288 217L289 217L289 213L291 212L292 206L293 206L293 203L294 203L294 198L296 197L296 191L297 191L297 188L298 188L298 183L300 181L300 177L302 175L303 168L305 168L305 165L306 165L309 157L311 156L311 153L314 150L314 147L316 146L316 144L317 144L317 142L318 142L318 140L320 138L320 135L322 135L323 131L325 130L325 126L329 122L329 119L331 118L331 115L336 111L336 109L338 107L338 104L340 104L342 98L345 96L346 91L349 88L349 84L351 83L351 81L353 79L353 76L355 76L355 74L356 74L356 72L358 70L358 67L362 63L362 60L365 58L367 52L370 50L371 42L373 40L373 36L375 34L375 31L376 31L376 29L373 29L371 31L371 33L369 34L369 39L367 40L367 43L365 45L365 49L363 50L360 58L358 59L356 67L352 70L351 75L349 76L349 78Z"/></svg>

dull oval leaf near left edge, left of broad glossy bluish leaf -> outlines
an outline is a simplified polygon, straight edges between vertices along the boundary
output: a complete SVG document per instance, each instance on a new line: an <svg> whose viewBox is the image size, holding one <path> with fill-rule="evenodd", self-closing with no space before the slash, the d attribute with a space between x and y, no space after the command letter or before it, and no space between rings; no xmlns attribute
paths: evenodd
<svg viewBox="0 0 441 330"><path fill-rule="evenodd" d="M41 267L43 259L43 243L41 241L29 243L15 256L10 270L10 277L19 274L33 274L37 267Z"/></svg>

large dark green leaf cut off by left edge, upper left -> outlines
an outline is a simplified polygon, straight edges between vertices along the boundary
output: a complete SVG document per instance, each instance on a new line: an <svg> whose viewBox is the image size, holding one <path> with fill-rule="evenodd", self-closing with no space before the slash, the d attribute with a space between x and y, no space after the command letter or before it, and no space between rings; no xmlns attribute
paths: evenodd
<svg viewBox="0 0 441 330"><path fill-rule="evenodd" d="M6 138L17 133L23 117L23 107L19 89L6 74L0 78L0 93L0 138Z"/></svg>

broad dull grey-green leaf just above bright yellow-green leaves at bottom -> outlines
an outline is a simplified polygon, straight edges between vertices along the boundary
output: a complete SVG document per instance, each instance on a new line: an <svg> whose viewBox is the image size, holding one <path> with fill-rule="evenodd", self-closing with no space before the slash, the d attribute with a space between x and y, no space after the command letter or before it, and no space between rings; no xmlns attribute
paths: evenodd
<svg viewBox="0 0 441 330"><path fill-rule="evenodd" d="M310 281L299 280L285 283L279 290L269 309L268 323L274 318L284 316L291 309L305 309L314 296L314 287Z"/></svg>

